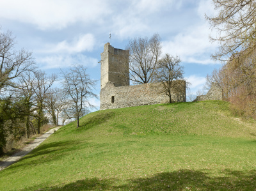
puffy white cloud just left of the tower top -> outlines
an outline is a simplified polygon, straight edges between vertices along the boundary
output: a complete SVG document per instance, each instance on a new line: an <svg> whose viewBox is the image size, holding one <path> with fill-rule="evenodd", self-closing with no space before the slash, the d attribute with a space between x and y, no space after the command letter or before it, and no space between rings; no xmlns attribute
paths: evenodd
<svg viewBox="0 0 256 191"><path fill-rule="evenodd" d="M95 38L93 34L83 34L76 38L72 42L67 42L64 40L57 45L48 45L49 49L47 52L68 52L68 53L76 53L83 52L85 50L92 51L95 45Z"/></svg>

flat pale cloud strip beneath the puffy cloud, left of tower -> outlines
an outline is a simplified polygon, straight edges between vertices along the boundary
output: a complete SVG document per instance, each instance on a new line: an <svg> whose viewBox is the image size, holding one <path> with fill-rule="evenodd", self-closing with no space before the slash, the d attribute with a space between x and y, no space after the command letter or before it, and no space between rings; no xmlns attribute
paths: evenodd
<svg viewBox="0 0 256 191"><path fill-rule="evenodd" d="M84 65L93 68L98 64L97 59L84 56L83 54L76 54L73 56L56 54L52 56L37 57L36 61L42 69L67 68L72 65Z"/></svg>

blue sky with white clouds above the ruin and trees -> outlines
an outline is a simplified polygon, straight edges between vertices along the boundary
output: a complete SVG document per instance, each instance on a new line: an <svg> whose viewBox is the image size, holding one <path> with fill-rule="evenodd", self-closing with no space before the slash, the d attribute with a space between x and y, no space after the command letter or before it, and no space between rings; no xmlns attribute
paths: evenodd
<svg viewBox="0 0 256 191"><path fill-rule="evenodd" d="M205 13L214 15L211 0L1 0L0 27L1 32L12 31L15 48L32 51L38 68L49 75L86 66L90 77L99 80L97 95L104 44L125 49L129 40L158 33L163 55L180 57L191 83L189 95L221 66L211 59L218 44L209 40L216 32ZM90 101L99 108L99 99Z"/></svg>

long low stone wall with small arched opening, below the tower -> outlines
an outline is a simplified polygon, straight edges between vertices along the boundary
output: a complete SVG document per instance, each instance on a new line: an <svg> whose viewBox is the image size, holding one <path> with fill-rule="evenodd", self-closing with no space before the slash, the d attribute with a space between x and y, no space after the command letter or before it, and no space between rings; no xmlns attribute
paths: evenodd
<svg viewBox="0 0 256 191"><path fill-rule="evenodd" d="M182 81L184 89L172 94L173 102L186 102L186 82ZM161 83L115 87L113 82L108 82L100 91L100 110L157 103L169 103Z"/></svg>

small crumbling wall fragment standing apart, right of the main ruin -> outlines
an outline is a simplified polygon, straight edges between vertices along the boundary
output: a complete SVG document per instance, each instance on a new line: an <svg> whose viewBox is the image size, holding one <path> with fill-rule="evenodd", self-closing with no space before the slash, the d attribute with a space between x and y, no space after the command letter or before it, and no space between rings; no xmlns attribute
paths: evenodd
<svg viewBox="0 0 256 191"><path fill-rule="evenodd" d="M197 96L193 102L206 101L206 100L222 100L223 93L220 85L218 83L212 82L211 89L206 95Z"/></svg>

